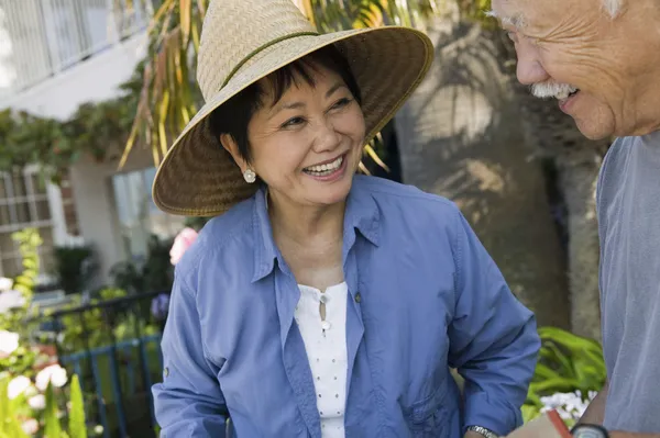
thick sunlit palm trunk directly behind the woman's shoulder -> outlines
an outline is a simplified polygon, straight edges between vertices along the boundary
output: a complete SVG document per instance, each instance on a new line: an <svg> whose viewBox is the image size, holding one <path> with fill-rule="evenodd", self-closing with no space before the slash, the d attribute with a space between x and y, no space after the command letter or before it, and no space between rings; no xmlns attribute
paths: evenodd
<svg viewBox="0 0 660 438"><path fill-rule="evenodd" d="M479 25L430 34L435 66L396 117L404 182L457 202L538 324L569 328L564 255L503 57Z"/></svg>

